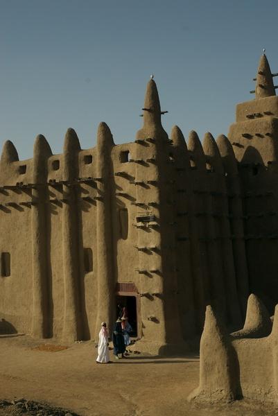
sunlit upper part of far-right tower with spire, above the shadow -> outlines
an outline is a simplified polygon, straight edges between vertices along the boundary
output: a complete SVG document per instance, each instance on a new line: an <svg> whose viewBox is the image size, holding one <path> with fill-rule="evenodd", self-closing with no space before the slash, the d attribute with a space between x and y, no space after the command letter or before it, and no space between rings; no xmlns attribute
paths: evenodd
<svg viewBox="0 0 278 416"><path fill-rule="evenodd" d="M252 101L236 106L236 123L229 128L231 142L238 162L264 164L277 162L278 157L278 97L265 53L261 55ZM257 169L254 170L254 172Z"/></svg>

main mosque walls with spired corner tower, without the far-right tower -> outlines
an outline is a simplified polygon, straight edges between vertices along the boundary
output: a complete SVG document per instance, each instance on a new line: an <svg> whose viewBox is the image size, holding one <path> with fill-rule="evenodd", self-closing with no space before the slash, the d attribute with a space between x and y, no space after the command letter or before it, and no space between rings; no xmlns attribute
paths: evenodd
<svg viewBox="0 0 278 416"><path fill-rule="evenodd" d="M73 129L60 155L43 136L27 161L4 145L0 223L12 263L11 275L0 279L0 311L17 331L97 339L103 320L112 328L117 287L130 282L149 351L186 349L208 303L219 304L233 327L240 324L247 275L235 266L223 156L209 134L203 147L191 132L186 148L177 126L168 138L153 80L143 111L129 144L116 146L101 123L96 147L87 150ZM240 290L238 281L245 282Z"/></svg>

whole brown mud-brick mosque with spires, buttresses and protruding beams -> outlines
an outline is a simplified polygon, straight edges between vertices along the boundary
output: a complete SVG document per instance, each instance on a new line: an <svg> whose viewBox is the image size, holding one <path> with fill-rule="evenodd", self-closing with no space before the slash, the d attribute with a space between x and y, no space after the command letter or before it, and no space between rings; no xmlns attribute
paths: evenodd
<svg viewBox="0 0 278 416"><path fill-rule="evenodd" d="M115 145L105 123L94 148L73 129L53 155L35 139L0 163L0 332L96 339L125 304L152 352L183 350L205 310L242 327L250 293L278 303L278 97L266 55L254 99L236 106L228 137L184 139L162 127L155 81L136 139Z"/></svg>

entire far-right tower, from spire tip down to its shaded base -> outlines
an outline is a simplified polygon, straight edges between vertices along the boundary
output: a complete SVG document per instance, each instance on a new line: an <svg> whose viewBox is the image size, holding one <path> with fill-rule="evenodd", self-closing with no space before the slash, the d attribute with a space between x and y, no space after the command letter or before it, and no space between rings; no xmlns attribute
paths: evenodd
<svg viewBox="0 0 278 416"><path fill-rule="evenodd" d="M250 291L272 313L278 302L278 96L265 53L261 56L254 100L236 106L229 141L238 161L245 252ZM229 172L227 172L229 175Z"/></svg>

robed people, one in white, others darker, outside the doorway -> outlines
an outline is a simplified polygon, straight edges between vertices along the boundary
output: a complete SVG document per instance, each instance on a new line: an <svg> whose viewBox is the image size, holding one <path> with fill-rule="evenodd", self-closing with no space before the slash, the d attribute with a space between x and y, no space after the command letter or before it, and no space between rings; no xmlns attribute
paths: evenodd
<svg viewBox="0 0 278 416"><path fill-rule="evenodd" d="M113 328L113 346L114 356L117 360L123 358L125 349L130 345L129 333L132 331L132 327L128 322L128 311L125 306L119 307L119 318L114 323ZM101 323L101 331L98 335L98 357L97 363L110 363L109 357L109 333L106 322Z"/></svg>

